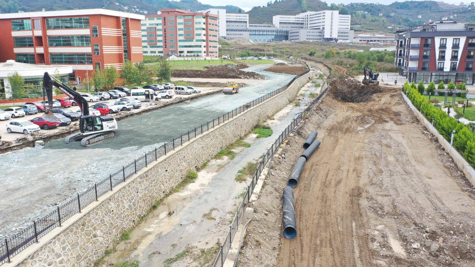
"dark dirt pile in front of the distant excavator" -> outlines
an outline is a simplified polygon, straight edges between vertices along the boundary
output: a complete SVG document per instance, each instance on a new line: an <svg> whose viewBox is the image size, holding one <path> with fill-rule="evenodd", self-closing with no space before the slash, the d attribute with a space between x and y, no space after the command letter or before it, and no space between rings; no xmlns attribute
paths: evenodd
<svg viewBox="0 0 475 267"><path fill-rule="evenodd" d="M366 102L376 93L383 92L383 86L363 85L350 77L339 77L330 81L330 94L344 102Z"/></svg>

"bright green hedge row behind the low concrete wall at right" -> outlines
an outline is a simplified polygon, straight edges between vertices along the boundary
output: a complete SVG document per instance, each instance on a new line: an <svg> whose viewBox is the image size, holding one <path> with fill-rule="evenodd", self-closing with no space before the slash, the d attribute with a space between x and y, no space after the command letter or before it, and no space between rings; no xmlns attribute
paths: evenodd
<svg viewBox="0 0 475 267"><path fill-rule="evenodd" d="M439 106L432 105L418 90L409 83L404 84L404 92L412 104L428 119L434 122L439 134L450 142L452 131L455 130L454 147L465 157L471 166L475 166L475 134L465 124L450 117Z"/></svg>

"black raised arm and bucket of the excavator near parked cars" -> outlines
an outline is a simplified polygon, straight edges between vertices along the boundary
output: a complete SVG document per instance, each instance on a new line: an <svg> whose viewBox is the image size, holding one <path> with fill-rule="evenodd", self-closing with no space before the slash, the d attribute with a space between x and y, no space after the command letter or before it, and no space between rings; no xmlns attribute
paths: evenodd
<svg viewBox="0 0 475 267"><path fill-rule="evenodd" d="M71 98L74 102L79 105L79 108L81 109L83 115L89 115L89 105L87 104L87 101L84 99L84 97L81 96L81 94L77 93L71 87L67 86L65 83L61 82L54 76L49 75L47 72L45 72L45 75L43 76L43 88L46 92L46 95L48 97L48 106L49 110L45 112L45 114L42 116L43 119L47 121L56 121L56 118L52 112L53 110L53 86L57 87L59 90L61 90L63 93L65 93L67 96Z"/></svg>

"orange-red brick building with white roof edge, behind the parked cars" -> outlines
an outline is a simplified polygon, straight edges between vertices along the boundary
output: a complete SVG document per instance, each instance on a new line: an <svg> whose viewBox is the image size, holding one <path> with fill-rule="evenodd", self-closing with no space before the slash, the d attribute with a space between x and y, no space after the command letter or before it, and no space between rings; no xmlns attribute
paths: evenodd
<svg viewBox="0 0 475 267"><path fill-rule="evenodd" d="M126 60L143 60L143 19L104 9L0 14L0 62L71 65L72 81L96 67L120 70Z"/></svg>

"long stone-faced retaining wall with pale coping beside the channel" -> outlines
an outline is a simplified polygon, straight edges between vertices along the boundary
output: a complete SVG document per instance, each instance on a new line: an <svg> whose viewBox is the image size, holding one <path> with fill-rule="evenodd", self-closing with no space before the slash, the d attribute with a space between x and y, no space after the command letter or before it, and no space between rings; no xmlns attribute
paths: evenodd
<svg viewBox="0 0 475 267"><path fill-rule="evenodd" d="M13 257L5 266L92 266L113 246L124 230L135 225L153 202L175 187L190 169L209 161L221 149L249 132L291 102L312 74L297 79L287 90L268 99L184 146L163 156L132 179L118 185L81 213L63 222Z"/></svg>

